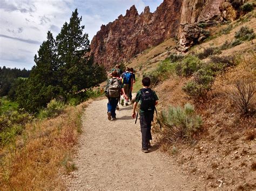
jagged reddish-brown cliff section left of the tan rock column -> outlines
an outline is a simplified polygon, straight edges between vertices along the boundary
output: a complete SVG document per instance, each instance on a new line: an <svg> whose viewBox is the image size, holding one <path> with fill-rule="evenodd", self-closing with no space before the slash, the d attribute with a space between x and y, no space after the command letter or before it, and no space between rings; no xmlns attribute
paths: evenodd
<svg viewBox="0 0 256 191"><path fill-rule="evenodd" d="M138 14L133 5L126 15L102 25L91 42L95 63L110 67L143 50L156 46L165 39L178 35L180 0L164 0L154 13L149 6Z"/></svg>

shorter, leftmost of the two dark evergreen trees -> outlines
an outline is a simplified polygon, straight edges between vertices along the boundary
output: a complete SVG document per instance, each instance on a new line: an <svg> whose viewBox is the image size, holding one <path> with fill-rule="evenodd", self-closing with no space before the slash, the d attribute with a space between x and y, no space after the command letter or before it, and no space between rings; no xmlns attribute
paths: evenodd
<svg viewBox="0 0 256 191"><path fill-rule="evenodd" d="M19 106L29 112L37 112L46 106L51 99L62 94L58 86L58 59L56 41L48 31L45 40L35 55L36 65L32 67L28 80L19 81L17 92L12 93L17 97Z"/></svg>

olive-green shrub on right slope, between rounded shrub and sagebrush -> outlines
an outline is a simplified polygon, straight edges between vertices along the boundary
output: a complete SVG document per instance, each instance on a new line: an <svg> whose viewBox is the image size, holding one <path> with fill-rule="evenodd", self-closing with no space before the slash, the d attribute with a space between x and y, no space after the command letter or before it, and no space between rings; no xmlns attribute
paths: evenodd
<svg viewBox="0 0 256 191"><path fill-rule="evenodd" d="M194 79L183 86L183 91L193 98L205 98L211 90L214 78L205 70L199 70L194 74Z"/></svg>

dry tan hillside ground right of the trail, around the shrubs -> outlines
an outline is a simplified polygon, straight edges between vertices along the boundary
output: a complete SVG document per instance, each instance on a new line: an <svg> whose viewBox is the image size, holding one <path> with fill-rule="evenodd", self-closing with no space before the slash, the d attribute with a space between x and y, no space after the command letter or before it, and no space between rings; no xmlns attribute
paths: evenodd
<svg viewBox="0 0 256 191"><path fill-rule="evenodd" d="M209 28L211 36L206 42L193 46L186 55L199 55L204 50L217 50L223 45L235 40L235 32L242 26L248 26L256 31L255 11L240 18L238 21L217 25ZM228 32L226 32L228 30ZM226 34L225 34L226 33ZM134 57L128 64L137 71L137 83L143 74L157 73L158 67L164 67L170 62L170 56L176 46L174 40L148 49ZM184 174L190 174L190 180L204 182L206 188L225 189L255 189L255 114L251 117L241 117L234 101L230 98L230 91L236 81L253 79L255 82L255 43L256 40L241 42L237 46L230 46L218 54L208 55L203 62L211 62L212 57L235 58L235 66L217 74L211 91L205 100L196 100L188 96L182 87L193 77L180 78L176 74L166 74L167 79L161 79L154 90L160 98L158 110L165 110L169 105L183 106L186 103L196 105L197 113L204 120L203 129L196 135L193 143L183 141L168 142L166 132L159 132L156 124L155 131L161 149L168 152ZM166 66L167 67L167 66ZM140 84L136 84L137 91ZM255 95L252 106L255 109ZM175 150L175 152L173 151Z"/></svg>

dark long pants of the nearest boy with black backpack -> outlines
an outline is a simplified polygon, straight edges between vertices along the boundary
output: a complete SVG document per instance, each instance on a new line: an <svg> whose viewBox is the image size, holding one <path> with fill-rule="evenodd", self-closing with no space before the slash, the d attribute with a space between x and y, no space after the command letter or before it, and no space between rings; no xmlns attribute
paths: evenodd
<svg viewBox="0 0 256 191"><path fill-rule="evenodd" d="M152 140L151 122L154 118L154 112L140 114L140 131L142 132L142 149L148 149L148 143Z"/></svg>

